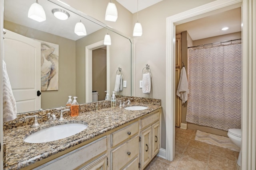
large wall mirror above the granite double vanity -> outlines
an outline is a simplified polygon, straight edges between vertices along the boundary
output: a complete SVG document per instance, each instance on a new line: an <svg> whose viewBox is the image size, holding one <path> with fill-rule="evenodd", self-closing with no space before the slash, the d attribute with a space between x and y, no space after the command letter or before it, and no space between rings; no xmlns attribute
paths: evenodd
<svg viewBox="0 0 256 170"><path fill-rule="evenodd" d="M12 39L9 35L14 33L40 42L40 57L36 59L40 61L40 89L35 89L41 91L38 97L40 107L26 110L34 105L34 101L22 105L23 102L20 100L17 102L18 113L66 106L68 96L77 96L79 104L93 102L92 91L98 92L98 101L105 100L104 91L108 90L111 96L117 74L122 74L126 87L116 92L116 95L132 95L130 37L58 0L39 0L38 3L46 13L46 20L42 22L32 20L28 18L28 10L35 2L36 0L4 1L4 29L7 31L4 46L8 46L4 48L11 53L11 55L4 53L4 61L10 83L12 88L17 88L18 91L23 88L20 84L29 85L22 89L25 92L19 94L20 96L28 96L26 90L34 86L34 82L28 80L30 76L34 76L30 71L32 69L28 69L34 67L34 59L23 58L20 56L21 52L14 53L16 47L22 48L22 46L8 44L5 41ZM53 9L65 10L69 14L68 19L57 19L52 13ZM85 36L74 33L74 27L79 21L85 25L87 32ZM103 43L107 33L111 37L111 45ZM52 52L53 49L55 52ZM122 72L118 70L119 68ZM27 73L23 72L24 70ZM35 79L38 79L38 76Z"/></svg>

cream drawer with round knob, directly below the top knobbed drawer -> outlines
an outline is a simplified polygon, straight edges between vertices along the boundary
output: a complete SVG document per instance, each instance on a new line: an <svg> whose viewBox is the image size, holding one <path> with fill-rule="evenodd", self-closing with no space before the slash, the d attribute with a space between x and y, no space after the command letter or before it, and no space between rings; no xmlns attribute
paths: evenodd
<svg viewBox="0 0 256 170"><path fill-rule="evenodd" d="M139 137L127 141L120 147L111 151L112 156L112 170L120 170L128 162L138 156L139 153Z"/></svg>

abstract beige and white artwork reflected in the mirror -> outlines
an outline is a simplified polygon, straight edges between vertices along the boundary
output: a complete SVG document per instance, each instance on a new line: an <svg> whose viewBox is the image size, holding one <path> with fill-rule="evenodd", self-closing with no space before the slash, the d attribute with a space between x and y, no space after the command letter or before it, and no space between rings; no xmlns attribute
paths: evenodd
<svg viewBox="0 0 256 170"><path fill-rule="evenodd" d="M38 40L40 41L40 40ZM41 91L58 90L59 45L41 42Z"/></svg>

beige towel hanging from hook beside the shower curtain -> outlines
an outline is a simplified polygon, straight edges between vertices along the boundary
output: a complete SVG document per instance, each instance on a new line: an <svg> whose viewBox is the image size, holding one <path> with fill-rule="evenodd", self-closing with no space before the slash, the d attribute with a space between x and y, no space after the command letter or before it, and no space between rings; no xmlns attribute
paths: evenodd
<svg viewBox="0 0 256 170"><path fill-rule="evenodd" d="M185 67L182 67L180 71L180 82L177 88L176 95L180 97L182 100L182 104L184 104L188 100L188 79L186 74Z"/></svg>

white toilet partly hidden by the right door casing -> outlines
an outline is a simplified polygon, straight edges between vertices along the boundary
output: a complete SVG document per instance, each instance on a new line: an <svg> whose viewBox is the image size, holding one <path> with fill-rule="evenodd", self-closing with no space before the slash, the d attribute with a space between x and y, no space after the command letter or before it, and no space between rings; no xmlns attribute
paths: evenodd
<svg viewBox="0 0 256 170"><path fill-rule="evenodd" d="M240 148L237 164L241 166L241 129L228 129L228 137L236 146Z"/></svg>

